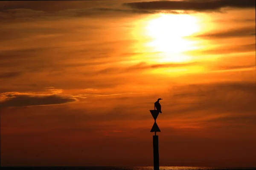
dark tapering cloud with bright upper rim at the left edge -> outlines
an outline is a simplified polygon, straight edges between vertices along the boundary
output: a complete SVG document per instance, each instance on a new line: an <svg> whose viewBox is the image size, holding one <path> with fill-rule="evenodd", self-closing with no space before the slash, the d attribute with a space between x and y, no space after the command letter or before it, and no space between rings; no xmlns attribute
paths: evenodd
<svg viewBox="0 0 256 170"><path fill-rule="evenodd" d="M76 101L75 98L61 95L33 95L19 94L17 92L7 92L1 95L2 98L5 98L5 100L1 102L1 107L52 105Z"/></svg>

